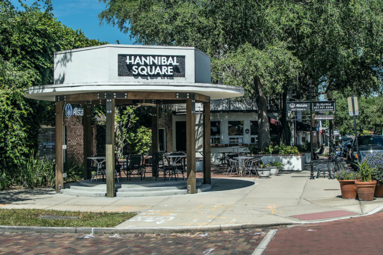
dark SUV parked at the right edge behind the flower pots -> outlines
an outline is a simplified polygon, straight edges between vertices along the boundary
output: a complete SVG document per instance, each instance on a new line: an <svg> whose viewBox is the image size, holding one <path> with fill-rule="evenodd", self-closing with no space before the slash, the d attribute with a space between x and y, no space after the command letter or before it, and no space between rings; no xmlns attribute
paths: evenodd
<svg viewBox="0 0 383 255"><path fill-rule="evenodd" d="M353 168L358 163L357 144L354 139L350 148L350 159ZM366 157L374 154L383 153L383 136L381 135L360 135L358 136L359 155L358 158L362 162Z"/></svg>

